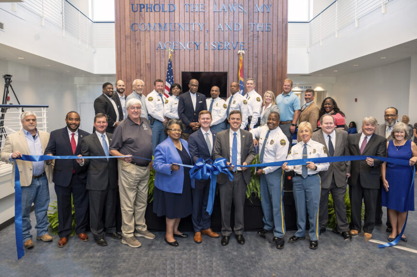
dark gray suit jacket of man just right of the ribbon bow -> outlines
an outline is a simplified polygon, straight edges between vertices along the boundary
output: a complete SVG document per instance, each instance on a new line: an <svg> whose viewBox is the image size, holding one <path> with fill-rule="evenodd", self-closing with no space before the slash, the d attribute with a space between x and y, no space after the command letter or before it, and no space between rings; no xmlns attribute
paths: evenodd
<svg viewBox="0 0 417 277"><path fill-rule="evenodd" d="M216 134L212 155L214 160L217 158L226 158L228 162L231 161L229 133L230 129L227 129ZM241 163L246 162L249 165L254 158L255 150L252 133L241 129ZM251 181L251 170L249 168L243 170L243 179L246 184L249 184ZM225 173L217 176L217 183L219 184L225 184L227 180L229 180L229 177Z"/></svg>

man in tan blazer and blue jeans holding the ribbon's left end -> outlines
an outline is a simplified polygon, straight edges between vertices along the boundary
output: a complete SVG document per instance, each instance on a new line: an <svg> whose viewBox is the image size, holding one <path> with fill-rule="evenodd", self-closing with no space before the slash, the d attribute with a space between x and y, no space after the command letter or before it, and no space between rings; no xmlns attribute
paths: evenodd
<svg viewBox="0 0 417 277"><path fill-rule="evenodd" d="M20 173L22 188L22 229L23 245L33 247L31 235L31 206L34 204L36 216L36 239L44 242L52 241L48 234L48 205L49 187L52 182L52 167L46 162L29 162L14 160L26 155L42 155L48 144L49 134L36 129L36 115L25 111L20 116L23 129L6 137L6 143L1 150L0 159L3 162L16 161ZM15 167L12 169L12 185L15 184Z"/></svg>

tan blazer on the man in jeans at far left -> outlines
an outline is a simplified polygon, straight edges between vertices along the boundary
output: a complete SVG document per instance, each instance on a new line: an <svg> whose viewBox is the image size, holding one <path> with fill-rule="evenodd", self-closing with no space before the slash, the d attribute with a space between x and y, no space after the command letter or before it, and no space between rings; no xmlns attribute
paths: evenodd
<svg viewBox="0 0 417 277"><path fill-rule="evenodd" d="M49 134L44 131L38 131L39 138L41 139L42 151L45 150L45 147L48 144ZM22 130L17 131L16 133L9 134L6 137L6 142L3 149L1 150L0 159L3 162L10 163L9 156L15 151L19 151L21 154L30 155L28 142L26 141L25 133ZM19 168L20 174L20 186L29 186L32 183L32 162L15 160ZM12 185L15 185L15 165L13 163L12 169ZM45 173L47 174L48 182L52 183L52 166L45 164Z"/></svg>

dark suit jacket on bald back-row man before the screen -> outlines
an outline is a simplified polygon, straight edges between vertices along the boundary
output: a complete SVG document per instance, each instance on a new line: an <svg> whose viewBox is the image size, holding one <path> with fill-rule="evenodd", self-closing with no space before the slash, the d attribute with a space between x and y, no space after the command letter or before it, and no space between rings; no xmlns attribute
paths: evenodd
<svg viewBox="0 0 417 277"><path fill-rule="evenodd" d="M182 93L178 98L178 117L185 124L184 133L191 134L192 128L188 125L192 122L198 122L198 114L200 111L207 109L206 96L200 92L197 94L197 102L195 103L195 110L192 106L190 91Z"/></svg>

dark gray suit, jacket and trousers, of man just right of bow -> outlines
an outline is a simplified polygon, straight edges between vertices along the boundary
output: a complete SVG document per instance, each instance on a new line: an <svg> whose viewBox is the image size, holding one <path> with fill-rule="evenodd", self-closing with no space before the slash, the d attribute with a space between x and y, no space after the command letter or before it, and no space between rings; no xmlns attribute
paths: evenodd
<svg viewBox="0 0 417 277"><path fill-rule="evenodd" d="M253 137L248 131L242 129L240 131L241 163L246 162L249 165L255 158ZM213 147L213 159L226 158L227 161L231 161L229 132L230 129L217 133ZM238 170L233 174L233 177L233 181L230 181L224 173L221 173L217 177L220 191L220 207L222 209L222 234L224 236L229 236L232 233L232 228L230 227L232 200L235 206L234 231L237 235L243 233L243 209L246 198L246 185L250 182L251 170Z"/></svg>

